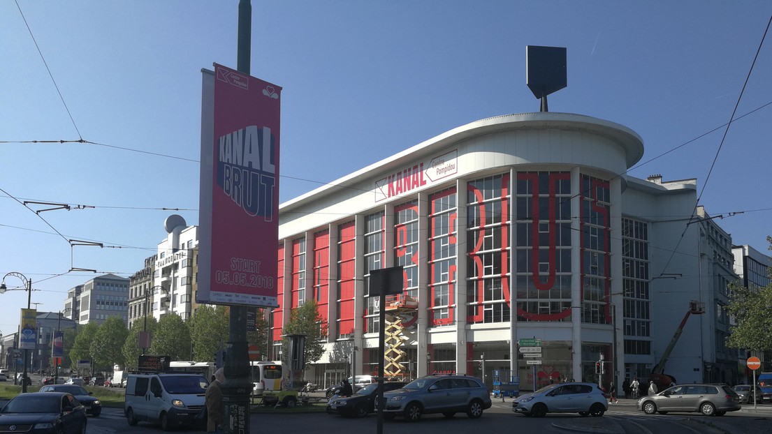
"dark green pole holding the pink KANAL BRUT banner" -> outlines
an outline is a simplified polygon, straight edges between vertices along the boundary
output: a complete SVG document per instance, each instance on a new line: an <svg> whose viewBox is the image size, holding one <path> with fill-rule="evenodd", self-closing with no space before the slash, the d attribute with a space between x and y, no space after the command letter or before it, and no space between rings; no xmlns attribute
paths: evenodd
<svg viewBox="0 0 772 434"><path fill-rule="evenodd" d="M250 50L252 48L252 4L239 0L239 33L237 66L239 72L249 75ZM222 383L222 403L225 408L223 430L225 434L249 432L249 357L245 306L231 305L228 341L225 345L225 382Z"/></svg>

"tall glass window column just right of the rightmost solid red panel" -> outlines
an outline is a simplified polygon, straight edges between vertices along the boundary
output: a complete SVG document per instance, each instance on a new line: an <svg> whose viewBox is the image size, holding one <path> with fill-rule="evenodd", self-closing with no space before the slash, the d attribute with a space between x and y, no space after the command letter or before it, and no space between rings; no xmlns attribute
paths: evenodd
<svg viewBox="0 0 772 434"><path fill-rule="evenodd" d="M366 232L364 234L364 295L367 300L365 315L365 332L380 331L380 298L370 295L370 272L383 268L384 255L384 213L370 214L365 217Z"/></svg>

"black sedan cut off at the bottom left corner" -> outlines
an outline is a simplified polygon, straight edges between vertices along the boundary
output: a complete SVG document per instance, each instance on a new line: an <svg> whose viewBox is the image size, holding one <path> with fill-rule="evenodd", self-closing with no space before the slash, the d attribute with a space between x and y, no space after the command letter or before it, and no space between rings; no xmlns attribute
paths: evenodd
<svg viewBox="0 0 772 434"><path fill-rule="evenodd" d="M16 395L0 410L0 432L85 434L86 411L69 393Z"/></svg>

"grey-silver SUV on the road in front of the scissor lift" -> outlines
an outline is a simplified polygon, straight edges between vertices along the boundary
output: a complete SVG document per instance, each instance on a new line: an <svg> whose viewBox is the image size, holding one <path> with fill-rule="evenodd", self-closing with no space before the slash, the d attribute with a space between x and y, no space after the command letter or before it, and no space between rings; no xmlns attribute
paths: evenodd
<svg viewBox="0 0 772 434"><path fill-rule="evenodd" d="M384 417L401 415L417 421L421 415L442 413L451 418L457 412L466 412L477 419L482 410L489 409L490 392L482 380L467 375L428 375L409 382L402 389L384 393Z"/></svg>

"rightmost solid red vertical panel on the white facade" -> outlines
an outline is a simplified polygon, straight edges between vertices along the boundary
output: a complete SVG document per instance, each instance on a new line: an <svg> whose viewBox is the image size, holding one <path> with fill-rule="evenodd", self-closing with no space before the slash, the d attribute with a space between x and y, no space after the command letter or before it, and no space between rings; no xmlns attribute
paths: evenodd
<svg viewBox="0 0 772 434"><path fill-rule="evenodd" d="M349 335L354 332L354 278L356 250L356 227L354 222L340 225L340 309L338 310L338 333Z"/></svg>

